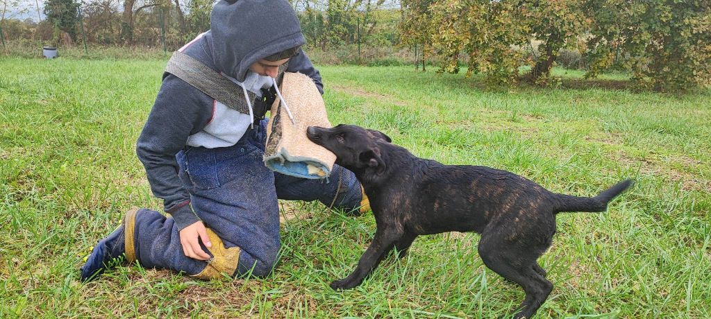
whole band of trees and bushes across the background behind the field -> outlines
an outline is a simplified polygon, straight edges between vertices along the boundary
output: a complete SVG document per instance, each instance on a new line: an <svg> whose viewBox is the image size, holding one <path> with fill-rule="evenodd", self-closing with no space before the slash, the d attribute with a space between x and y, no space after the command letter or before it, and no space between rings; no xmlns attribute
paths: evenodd
<svg viewBox="0 0 711 319"><path fill-rule="evenodd" d="M162 47L165 30L166 45L175 50L210 28L212 4L85 0L82 16L90 47ZM309 50L319 48L327 63L411 63L414 52L423 70L426 61L440 72L466 67L467 76L482 73L496 85L521 79L547 84L555 65L585 68L587 77L630 72L638 87L653 90L711 85L711 0L292 0L292 5ZM49 1L46 10L68 13L43 23L5 15L7 6L27 11L21 1L0 0L0 6L9 40L50 38L49 23L62 19L68 19L62 24L70 35L77 31L71 24L76 0Z"/></svg>

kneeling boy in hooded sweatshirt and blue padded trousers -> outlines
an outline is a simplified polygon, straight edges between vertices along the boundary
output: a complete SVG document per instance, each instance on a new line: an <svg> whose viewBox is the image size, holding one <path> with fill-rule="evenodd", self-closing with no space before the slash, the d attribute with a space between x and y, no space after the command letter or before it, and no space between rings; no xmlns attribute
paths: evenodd
<svg viewBox="0 0 711 319"><path fill-rule="evenodd" d="M358 180L339 166L331 172L338 183L323 183L274 173L262 162L263 117L277 92L273 79L284 70L301 72L323 94L321 75L300 49L305 40L294 9L284 0L222 0L210 19L210 31L179 51L240 85L253 116L164 73L137 154L172 218L130 211L87 257L82 281L124 254L144 267L201 279L267 276L280 247L277 198L319 200L344 210L365 207Z"/></svg>

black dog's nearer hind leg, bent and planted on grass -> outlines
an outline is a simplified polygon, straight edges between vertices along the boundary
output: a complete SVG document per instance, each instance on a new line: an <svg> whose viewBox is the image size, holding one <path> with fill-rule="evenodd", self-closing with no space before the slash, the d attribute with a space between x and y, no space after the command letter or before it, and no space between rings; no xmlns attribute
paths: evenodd
<svg viewBox="0 0 711 319"><path fill-rule="evenodd" d="M534 271L539 249L519 249L500 237L482 234L479 256L486 266L503 278L518 283L526 293L513 318L531 318L553 290L553 284Z"/></svg>

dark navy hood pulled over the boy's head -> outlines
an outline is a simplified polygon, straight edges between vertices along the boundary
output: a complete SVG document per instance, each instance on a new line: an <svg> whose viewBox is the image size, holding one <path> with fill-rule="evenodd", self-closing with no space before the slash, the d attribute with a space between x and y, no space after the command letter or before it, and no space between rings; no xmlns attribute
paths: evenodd
<svg viewBox="0 0 711 319"><path fill-rule="evenodd" d="M306 43L286 0L220 0L210 33L215 67L240 82L257 60Z"/></svg>

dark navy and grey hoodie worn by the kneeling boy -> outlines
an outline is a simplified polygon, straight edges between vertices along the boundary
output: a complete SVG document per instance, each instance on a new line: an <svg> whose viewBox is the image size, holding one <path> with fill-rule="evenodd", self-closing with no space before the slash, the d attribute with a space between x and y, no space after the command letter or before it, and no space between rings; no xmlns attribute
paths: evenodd
<svg viewBox="0 0 711 319"><path fill-rule="evenodd" d="M215 4L210 31L181 48L183 53L231 77L261 96L267 83L249 70L252 63L297 45L304 45L299 20L284 0L222 0ZM321 75L303 51L289 60L288 72L301 72L323 93ZM255 109L263 108L261 98ZM223 106L224 107L224 106ZM251 119L250 119L251 120ZM245 114L220 108L219 102L174 75L164 73L161 90L137 141L137 155L146 168L151 190L179 229L197 222L190 194L178 178L176 154L186 145L234 145L245 133Z"/></svg>

